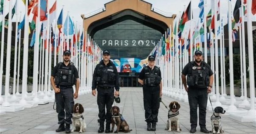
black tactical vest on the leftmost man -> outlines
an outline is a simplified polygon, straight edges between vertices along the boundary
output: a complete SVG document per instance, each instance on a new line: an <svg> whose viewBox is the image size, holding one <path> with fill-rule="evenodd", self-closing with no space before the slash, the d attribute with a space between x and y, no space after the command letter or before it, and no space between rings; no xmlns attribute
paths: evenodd
<svg viewBox="0 0 256 134"><path fill-rule="evenodd" d="M76 83L74 75L74 63L70 62L67 67L62 62L58 63L58 72L55 75L55 85L58 86L73 86Z"/></svg>

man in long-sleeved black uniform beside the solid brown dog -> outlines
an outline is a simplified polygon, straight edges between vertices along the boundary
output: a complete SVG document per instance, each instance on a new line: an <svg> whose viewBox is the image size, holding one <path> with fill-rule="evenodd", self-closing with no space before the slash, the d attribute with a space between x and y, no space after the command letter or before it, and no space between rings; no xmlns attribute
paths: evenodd
<svg viewBox="0 0 256 134"><path fill-rule="evenodd" d="M96 88L98 91L97 104L99 108L100 125L98 132L104 132L104 122L106 119L105 133L110 132L111 123L111 108L114 102L114 95L119 96L119 77L116 66L110 61L110 53L108 50L104 50L102 54L103 60L96 65L93 79L92 79L92 95L96 95ZM114 87L116 92L114 94ZM107 111L105 112L105 107Z"/></svg>

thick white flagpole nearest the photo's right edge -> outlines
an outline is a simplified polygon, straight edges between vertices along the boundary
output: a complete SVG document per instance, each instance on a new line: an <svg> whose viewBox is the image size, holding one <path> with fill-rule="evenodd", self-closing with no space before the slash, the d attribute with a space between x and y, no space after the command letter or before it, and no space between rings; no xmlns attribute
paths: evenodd
<svg viewBox="0 0 256 134"><path fill-rule="evenodd" d="M249 78L250 78L250 98L251 109L248 115L255 115L255 85L254 85L254 57L253 57L253 39L252 39L252 0L247 0L247 35L248 35L248 57L249 57ZM255 46L254 46L255 47Z"/></svg>

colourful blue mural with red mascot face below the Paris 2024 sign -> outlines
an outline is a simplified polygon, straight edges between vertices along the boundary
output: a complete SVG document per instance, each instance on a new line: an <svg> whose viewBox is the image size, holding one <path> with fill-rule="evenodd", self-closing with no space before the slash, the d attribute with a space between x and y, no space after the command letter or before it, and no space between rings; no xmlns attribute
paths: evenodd
<svg viewBox="0 0 256 134"><path fill-rule="evenodd" d="M140 72L148 64L148 58L111 58L118 72Z"/></svg>

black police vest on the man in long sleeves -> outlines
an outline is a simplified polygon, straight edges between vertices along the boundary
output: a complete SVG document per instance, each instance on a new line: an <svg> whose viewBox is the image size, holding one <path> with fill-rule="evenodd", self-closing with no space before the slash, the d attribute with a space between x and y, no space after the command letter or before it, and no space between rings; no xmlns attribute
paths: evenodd
<svg viewBox="0 0 256 134"><path fill-rule="evenodd" d="M114 87L116 83L116 72L114 65L99 64L97 69L96 82L99 86Z"/></svg>

